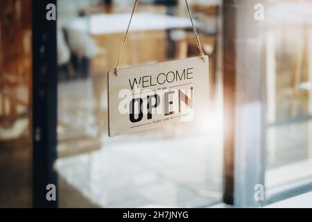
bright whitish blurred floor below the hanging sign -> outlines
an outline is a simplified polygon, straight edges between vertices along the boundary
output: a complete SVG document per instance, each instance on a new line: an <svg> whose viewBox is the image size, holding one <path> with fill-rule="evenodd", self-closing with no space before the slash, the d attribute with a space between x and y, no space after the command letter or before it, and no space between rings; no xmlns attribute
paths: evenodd
<svg viewBox="0 0 312 222"><path fill-rule="evenodd" d="M204 207L221 197L218 141L198 137L117 143L60 159L58 171L101 207Z"/></svg>

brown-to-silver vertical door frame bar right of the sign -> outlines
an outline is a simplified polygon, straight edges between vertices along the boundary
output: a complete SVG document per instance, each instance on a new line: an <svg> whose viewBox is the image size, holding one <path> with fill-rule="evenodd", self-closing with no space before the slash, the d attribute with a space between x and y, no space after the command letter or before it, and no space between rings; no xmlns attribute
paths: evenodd
<svg viewBox="0 0 312 222"><path fill-rule="evenodd" d="M263 0L223 1L223 201L236 207L257 207L254 186L264 187L266 84L256 3Z"/></svg>

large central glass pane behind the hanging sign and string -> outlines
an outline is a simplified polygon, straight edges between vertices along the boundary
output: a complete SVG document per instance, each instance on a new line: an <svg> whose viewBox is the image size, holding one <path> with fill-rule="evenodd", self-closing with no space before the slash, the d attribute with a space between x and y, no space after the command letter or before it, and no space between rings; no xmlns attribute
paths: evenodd
<svg viewBox="0 0 312 222"><path fill-rule="evenodd" d="M60 207L206 207L220 202L218 2L190 5L209 55L209 112L201 123L108 137L107 71L116 65L132 3L58 1ZM119 67L197 55L184 1L139 1Z"/></svg>

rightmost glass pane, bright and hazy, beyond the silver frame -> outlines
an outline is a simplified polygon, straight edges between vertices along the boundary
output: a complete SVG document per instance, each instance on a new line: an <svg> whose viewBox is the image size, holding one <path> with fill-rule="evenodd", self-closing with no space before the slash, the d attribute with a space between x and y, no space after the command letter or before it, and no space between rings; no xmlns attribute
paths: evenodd
<svg viewBox="0 0 312 222"><path fill-rule="evenodd" d="M312 3L268 7L266 187L273 195L288 186L286 198L312 182Z"/></svg>

